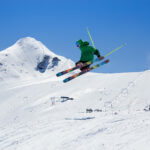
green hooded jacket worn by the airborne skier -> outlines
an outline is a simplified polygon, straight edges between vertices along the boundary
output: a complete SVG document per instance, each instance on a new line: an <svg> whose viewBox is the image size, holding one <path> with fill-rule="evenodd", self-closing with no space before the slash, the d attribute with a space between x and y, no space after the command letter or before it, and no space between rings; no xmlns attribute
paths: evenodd
<svg viewBox="0 0 150 150"><path fill-rule="evenodd" d="M91 61L94 59L94 55L100 57L99 51L92 46L89 46L89 42L83 42L82 40L78 40L77 43L81 50L80 61Z"/></svg>

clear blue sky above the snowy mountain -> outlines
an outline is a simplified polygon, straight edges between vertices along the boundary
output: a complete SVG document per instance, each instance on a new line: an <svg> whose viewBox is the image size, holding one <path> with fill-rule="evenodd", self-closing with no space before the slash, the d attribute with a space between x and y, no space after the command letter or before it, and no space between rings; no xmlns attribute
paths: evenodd
<svg viewBox="0 0 150 150"><path fill-rule="evenodd" d="M150 0L0 0L0 50L31 36L78 61L86 27L102 55L127 43L97 72L150 69Z"/></svg>

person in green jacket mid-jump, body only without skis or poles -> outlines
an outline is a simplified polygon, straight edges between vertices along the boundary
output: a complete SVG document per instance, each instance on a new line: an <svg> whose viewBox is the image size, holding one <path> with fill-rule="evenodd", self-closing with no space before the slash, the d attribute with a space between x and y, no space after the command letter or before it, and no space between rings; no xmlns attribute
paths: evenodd
<svg viewBox="0 0 150 150"><path fill-rule="evenodd" d="M81 57L78 62L76 62L76 66L80 66L81 71L88 71L90 65L82 67L82 65L88 61L92 61L94 59L94 55L96 55L100 60L104 59L103 56L100 55L98 49L89 46L89 42L83 42L81 39L76 42L76 46L81 50Z"/></svg>

